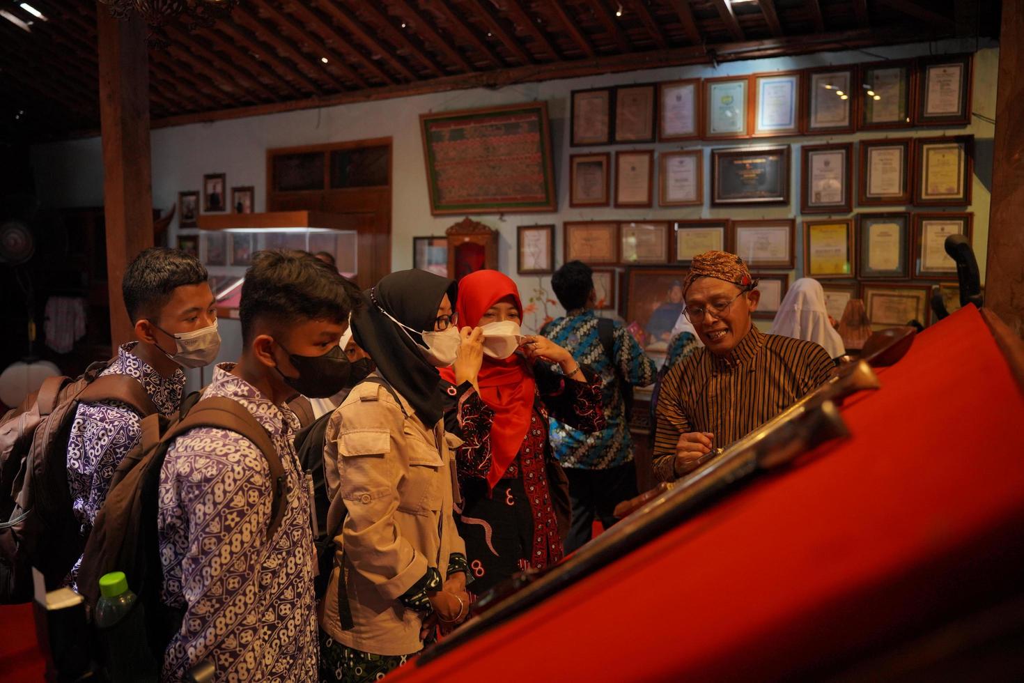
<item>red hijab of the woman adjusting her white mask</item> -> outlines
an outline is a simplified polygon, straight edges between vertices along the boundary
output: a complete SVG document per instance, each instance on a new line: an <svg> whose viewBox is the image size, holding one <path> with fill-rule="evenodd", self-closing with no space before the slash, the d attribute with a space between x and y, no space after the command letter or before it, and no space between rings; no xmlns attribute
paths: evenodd
<svg viewBox="0 0 1024 683"><path fill-rule="evenodd" d="M511 278L497 270L477 270L466 275L459 281L456 306L459 326L476 327L488 308L508 296L515 301L521 316L522 301ZM455 382L451 368L441 370L441 377ZM504 360L484 355L477 384L483 402L495 412L490 426L490 470L487 472L487 483L494 488L526 438L537 382L526 361L513 354Z"/></svg>

